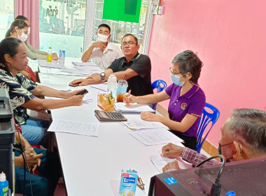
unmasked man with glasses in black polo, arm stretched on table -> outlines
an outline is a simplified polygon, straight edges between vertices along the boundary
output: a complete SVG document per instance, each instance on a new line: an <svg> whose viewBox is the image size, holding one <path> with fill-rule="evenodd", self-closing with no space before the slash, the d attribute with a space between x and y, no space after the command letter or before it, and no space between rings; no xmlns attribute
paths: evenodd
<svg viewBox="0 0 266 196"><path fill-rule="evenodd" d="M128 83L128 90L135 96L152 94L151 87L151 59L147 55L139 54L138 39L132 34L123 37L121 49L125 57L115 59L111 66L102 73L93 73L85 79L77 79L71 85L89 85L103 83L114 74L117 80L125 77Z"/></svg>

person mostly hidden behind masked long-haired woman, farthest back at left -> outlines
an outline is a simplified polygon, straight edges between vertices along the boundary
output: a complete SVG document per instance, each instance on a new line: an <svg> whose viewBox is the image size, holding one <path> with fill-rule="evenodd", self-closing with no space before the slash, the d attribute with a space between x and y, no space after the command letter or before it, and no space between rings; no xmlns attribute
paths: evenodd
<svg viewBox="0 0 266 196"><path fill-rule="evenodd" d="M30 23L29 23L29 20L23 16L23 15L18 15L15 20L23 20L27 26L28 26L28 30L27 30L27 38L29 37L29 34L30 34ZM25 43L25 47L27 49L27 55L30 59L47 59L47 55L48 53L47 52L43 52L41 50L37 50L35 48L33 48L28 39L26 38L25 41L22 41L23 43ZM57 56L57 53L52 53L52 59L53 60L57 60L58 59L58 56Z"/></svg>

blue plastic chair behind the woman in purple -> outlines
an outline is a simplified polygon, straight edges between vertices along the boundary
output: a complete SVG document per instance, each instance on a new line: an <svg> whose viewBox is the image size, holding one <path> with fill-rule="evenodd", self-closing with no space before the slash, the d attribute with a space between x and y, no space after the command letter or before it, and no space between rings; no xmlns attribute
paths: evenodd
<svg viewBox="0 0 266 196"><path fill-rule="evenodd" d="M197 153L200 153L200 150L202 149L202 145L205 139L207 138L209 132L211 131L211 128L214 126L214 124L216 123L216 121L220 116L220 111L218 111L216 107L208 103L205 104L205 107L211 109L214 113L209 113L205 109L203 109L202 111L202 117L200 118L199 121L199 129L197 130ZM202 139L202 134L210 122L211 122L211 127L209 128L209 131L205 135L204 139Z"/></svg>

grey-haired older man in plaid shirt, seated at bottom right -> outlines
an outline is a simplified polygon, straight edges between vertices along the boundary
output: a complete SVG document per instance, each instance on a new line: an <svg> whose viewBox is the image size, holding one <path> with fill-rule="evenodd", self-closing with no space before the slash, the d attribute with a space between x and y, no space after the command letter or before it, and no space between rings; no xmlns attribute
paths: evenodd
<svg viewBox="0 0 266 196"><path fill-rule="evenodd" d="M227 162L266 157L266 113L258 109L234 109L232 115L221 128L219 146ZM189 148L174 144L162 147L162 157L177 158L198 165L207 157ZM221 164L210 160L203 166ZM169 162L163 167L163 172L170 172L179 168L177 161Z"/></svg>

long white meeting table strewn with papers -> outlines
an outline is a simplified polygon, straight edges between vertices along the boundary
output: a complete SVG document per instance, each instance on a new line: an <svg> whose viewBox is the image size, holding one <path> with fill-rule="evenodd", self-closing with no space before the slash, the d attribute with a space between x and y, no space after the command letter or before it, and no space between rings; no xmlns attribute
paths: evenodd
<svg viewBox="0 0 266 196"><path fill-rule="evenodd" d="M77 76L40 73L41 82L69 83ZM80 89L82 87L72 87ZM52 110L53 119L97 121L97 90L86 86L93 102ZM148 195L152 176L159 174L149 157L163 145L144 146L129 134L120 123L102 123L99 137L56 132L66 190L68 195L118 195L121 169L135 169L146 184L145 190L137 188L137 196Z"/></svg>

